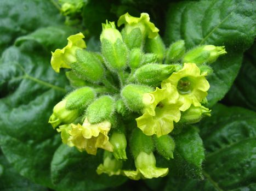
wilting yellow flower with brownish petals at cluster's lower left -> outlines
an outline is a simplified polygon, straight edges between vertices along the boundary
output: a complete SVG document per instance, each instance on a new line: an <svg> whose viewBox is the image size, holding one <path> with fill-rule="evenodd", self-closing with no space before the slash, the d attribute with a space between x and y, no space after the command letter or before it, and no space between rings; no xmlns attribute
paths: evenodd
<svg viewBox="0 0 256 191"><path fill-rule="evenodd" d="M88 154L96 154L97 148L113 151L113 146L109 142L107 135L111 128L111 123L104 121L97 124L90 124L86 118L83 125L71 124L72 129L69 131L70 140L79 151L87 151Z"/></svg>

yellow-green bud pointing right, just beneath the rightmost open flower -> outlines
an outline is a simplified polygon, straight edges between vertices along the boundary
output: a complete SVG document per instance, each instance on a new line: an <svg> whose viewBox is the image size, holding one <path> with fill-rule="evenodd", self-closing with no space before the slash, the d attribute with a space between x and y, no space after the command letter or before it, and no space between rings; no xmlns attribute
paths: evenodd
<svg viewBox="0 0 256 191"><path fill-rule="evenodd" d="M205 108L204 106L190 106L190 108L181 114L181 123L197 123L204 116L211 116L211 110Z"/></svg>

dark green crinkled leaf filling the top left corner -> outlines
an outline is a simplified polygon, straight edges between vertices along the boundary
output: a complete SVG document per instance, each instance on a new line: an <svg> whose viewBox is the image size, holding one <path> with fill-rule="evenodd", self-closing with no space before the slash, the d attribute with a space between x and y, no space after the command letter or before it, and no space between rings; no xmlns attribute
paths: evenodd
<svg viewBox="0 0 256 191"><path fill-rule="evenodd" d="M0 1L0 55L15 38L39 27L56 26L61 19L51 1Z"/></svg>

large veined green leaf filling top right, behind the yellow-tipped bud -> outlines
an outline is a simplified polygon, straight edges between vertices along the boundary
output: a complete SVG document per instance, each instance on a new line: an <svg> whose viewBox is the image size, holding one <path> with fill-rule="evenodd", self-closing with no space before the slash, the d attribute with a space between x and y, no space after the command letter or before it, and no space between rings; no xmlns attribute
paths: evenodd
<svg viewBox="0 0 256 191"><path fill-rule="evenodd" d="M165 35L168 44L184 39L187 49L203 44L226 46L227 55L212 64L214 73L208 77L208 106L225 96L240 69L242 53L253 43L255 8L255 2L246 0L170 4Z"/></svg>

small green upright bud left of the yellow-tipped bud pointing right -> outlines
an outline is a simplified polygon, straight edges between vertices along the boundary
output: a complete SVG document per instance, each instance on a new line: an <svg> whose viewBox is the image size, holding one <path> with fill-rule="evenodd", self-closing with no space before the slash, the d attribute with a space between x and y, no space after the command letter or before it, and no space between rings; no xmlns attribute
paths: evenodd
<svg viewBox="0 0 256 191"><path fill-rule="evenodd" d="M185 41L179 40L171 44L166 51L166 63L173 63L179 61L186 51Z"/></svg>

